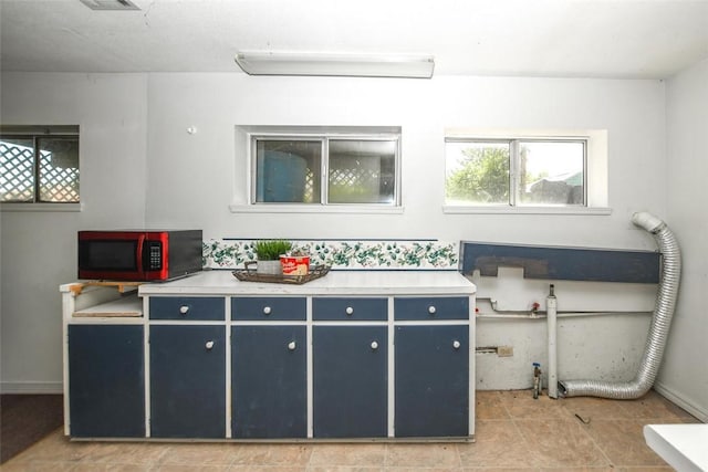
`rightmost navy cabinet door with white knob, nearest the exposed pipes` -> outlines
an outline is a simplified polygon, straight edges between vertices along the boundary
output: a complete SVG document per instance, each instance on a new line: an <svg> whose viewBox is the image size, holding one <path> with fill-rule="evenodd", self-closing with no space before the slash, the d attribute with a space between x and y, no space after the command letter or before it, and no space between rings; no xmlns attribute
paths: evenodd
<svg viewBox="0 0 708 472"><path fill-rule="evenodd" d="M469 436L469 326L396 326L395 436Z"/></svg>

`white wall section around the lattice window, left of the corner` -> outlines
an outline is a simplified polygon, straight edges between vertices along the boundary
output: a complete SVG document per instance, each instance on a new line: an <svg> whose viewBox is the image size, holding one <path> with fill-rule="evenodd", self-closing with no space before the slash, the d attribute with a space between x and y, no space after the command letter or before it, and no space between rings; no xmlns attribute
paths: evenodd
<svg viewBox="0 0 708 472"><path fill-rule="evenodd" d="M2 123L79 125L81 212L0 213L2 391L61 391L76 231L145 221L146 76L3 74Z"/></svg>

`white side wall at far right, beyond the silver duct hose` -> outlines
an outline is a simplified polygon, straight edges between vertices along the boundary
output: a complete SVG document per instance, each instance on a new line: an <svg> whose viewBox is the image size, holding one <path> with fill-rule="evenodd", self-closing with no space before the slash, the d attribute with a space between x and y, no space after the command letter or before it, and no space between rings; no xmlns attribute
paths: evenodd
<svg viewBox="0 0 708 472"><path fill-rule="evenodd" d="M708 421L708 60L670 78L666 92L668 223L681 247L676 314L657 386Z"/></svg>

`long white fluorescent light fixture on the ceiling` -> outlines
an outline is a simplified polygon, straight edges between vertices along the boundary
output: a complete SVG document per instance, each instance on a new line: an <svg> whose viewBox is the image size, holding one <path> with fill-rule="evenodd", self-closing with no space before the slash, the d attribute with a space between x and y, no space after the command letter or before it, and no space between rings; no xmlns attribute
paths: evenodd
<svg viewBox="0 0 708 472"><path fill-rule="evenodd" d="M249 75L430 78L431 55L239 52L236 63Z"/></svg>

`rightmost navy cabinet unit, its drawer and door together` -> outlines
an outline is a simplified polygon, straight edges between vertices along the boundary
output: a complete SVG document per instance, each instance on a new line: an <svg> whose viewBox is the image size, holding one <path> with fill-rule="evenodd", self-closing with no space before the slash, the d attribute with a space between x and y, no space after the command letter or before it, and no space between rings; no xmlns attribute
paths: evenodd
<svg viewBox="0 0 708 472"><path fill-rule="evenodd" d="M396 437L473 434L469 297L396 297L394 311Z"/></svg>

